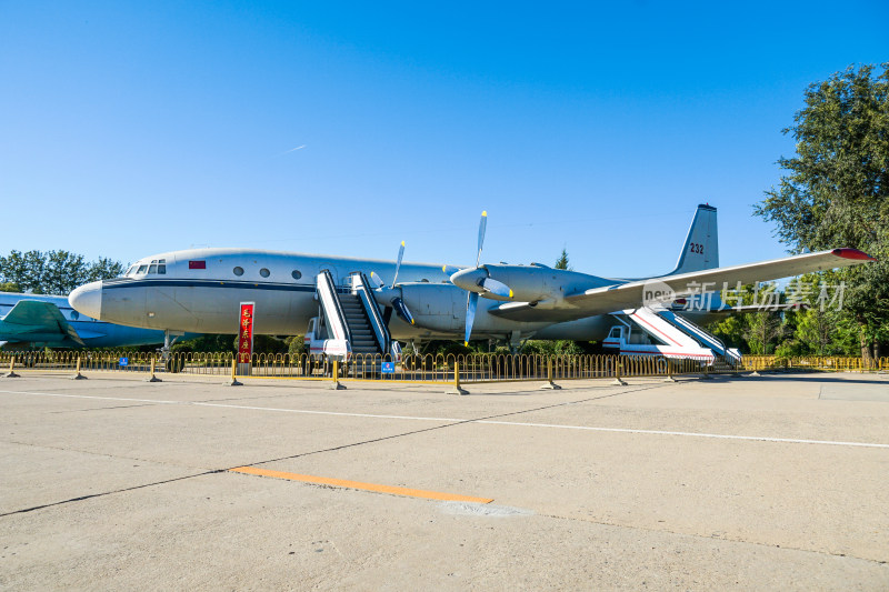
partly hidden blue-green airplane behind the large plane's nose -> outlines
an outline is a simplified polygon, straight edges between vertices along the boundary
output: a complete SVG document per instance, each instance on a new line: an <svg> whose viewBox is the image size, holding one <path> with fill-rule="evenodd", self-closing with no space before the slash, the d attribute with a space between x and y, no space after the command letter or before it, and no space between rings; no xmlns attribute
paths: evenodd
<svg viewBox="0 0 889 592"><path fill-rule="evenodd" d="M119 348L163 343L163 337L156 329L90 318L72 309L64 295L0 292L0 345Z"/></svg>

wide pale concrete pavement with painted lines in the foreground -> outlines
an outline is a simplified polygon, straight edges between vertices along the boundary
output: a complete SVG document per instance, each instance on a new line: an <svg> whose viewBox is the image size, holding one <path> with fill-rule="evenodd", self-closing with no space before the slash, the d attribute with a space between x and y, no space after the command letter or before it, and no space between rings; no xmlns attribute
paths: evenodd
<svg viewBox="0 0 889 592"><path fill-rule="evenodd" d="M0 588L889 588L886 377L221 382L0 381Z"/></svg>

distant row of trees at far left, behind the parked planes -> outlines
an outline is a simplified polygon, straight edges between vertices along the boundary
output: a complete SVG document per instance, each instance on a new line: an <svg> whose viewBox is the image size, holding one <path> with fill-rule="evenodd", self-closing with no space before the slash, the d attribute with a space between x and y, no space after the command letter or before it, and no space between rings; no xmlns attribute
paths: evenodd
<svg viewBox="0 0 889 592"><path fill-rule="evenodd" d="M69 251L12 250L0 257L0 282L34 294L68 294L78 285L116 278L123 264L107 258L87 262L83 255Z"/></svg>

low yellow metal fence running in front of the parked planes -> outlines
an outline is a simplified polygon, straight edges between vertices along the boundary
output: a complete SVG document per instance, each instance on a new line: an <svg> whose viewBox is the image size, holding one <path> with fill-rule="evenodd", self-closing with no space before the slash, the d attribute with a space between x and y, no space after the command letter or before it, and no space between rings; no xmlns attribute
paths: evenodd
<svg viewBox="0 0 889 592"><path fill-rule="evenodd" d="M233 353L159 353L127 351L22 351L0 352L0 367L9 372L42 371L72 374L87 372L129 372L249 377L257 379L299 379L318 381L374 381L398 383L460 384L520 381L566 381L686 374L819 370L867 372L889 370L889 358L865 367L860 358L747 355L738 367L718 363L701 365L695 360L641 355L503 355L423 354L390 357L356 355L337 363L306 354L254 354L250 363L236 363Z"/></svg>

